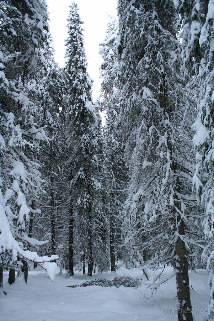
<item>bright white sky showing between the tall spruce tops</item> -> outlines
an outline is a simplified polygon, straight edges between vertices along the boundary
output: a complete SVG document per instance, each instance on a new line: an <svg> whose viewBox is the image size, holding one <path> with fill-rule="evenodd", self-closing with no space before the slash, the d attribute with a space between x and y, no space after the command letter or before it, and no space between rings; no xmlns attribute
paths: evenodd
<svg viewBox="0 0 214 321"><path fill-rule="evenodd" d="M67 17L72 0L47 0L50 32L56 51L55 60L60 67L64 65L67 38ZM76 0L79 14L85 28L85 51L88 57L88 73L94 80L93 98L99 95L101 79L99 67L102 59L99 55L99 43L105 38L105 30L110 16L116 16L117 0Z"/></svg>

